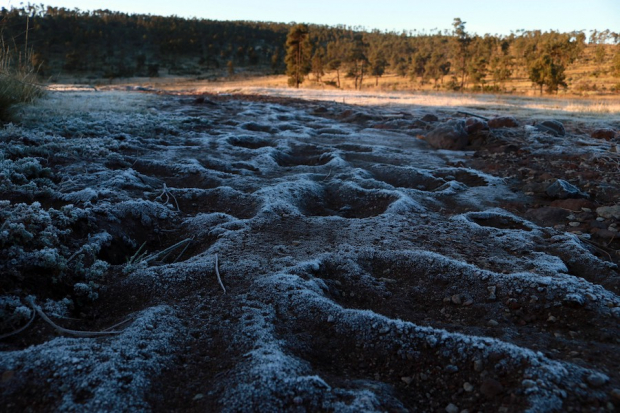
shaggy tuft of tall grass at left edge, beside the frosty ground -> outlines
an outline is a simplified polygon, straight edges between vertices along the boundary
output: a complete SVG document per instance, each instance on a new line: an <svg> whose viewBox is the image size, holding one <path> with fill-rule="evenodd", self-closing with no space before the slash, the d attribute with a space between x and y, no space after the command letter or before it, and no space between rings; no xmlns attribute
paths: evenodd
<svg viewBox="0 0 620 413"><path fill-rule="evenodd" d="M0 45L0 121L10 119L11 109L19 103L30 103L41 97L37 69L30 62L32 52L15 53L4 40Z"/></svg>

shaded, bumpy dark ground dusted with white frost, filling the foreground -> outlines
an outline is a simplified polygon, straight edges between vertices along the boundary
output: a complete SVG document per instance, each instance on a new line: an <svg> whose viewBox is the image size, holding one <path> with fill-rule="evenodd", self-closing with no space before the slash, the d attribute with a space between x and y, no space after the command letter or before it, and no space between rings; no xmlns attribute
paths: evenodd
<svg viewBox="0 0 620 413"><path fill-rule="evenodd" d="M613 165L613 142L419 139L456 116L51 93L0 130L3 411L620 407L616 244L580 215L614 233L616 172L588 170L592 205L548 226L484 152Z"/></svg>

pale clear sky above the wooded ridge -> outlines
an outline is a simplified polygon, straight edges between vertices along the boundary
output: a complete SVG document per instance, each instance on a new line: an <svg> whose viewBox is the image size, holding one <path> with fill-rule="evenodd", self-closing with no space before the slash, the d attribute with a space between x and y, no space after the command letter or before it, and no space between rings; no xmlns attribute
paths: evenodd
<svg viewBox="0 0 620 413"><path fill-rule="evenodd" d="M23 3L22 3L23 2ZM23 0L0 0L20 6ZM620 32L620 0L49 0L32 1L80 10L177 15L214 20L345 24L380 30L451 29L460 17L478 34L518 29Z"/></svg>

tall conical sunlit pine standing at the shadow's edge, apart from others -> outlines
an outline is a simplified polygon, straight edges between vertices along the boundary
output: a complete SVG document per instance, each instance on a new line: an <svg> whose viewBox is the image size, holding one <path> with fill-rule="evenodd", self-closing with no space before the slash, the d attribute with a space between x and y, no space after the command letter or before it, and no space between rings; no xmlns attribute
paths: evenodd
<svg viewBox="0 0 620 413"><path fill-rule="evenodd" d="M308 26L298 24L291 27L286 38L286 74L289 86L299 88L304 77L310 73L312 46Z"/></svg>

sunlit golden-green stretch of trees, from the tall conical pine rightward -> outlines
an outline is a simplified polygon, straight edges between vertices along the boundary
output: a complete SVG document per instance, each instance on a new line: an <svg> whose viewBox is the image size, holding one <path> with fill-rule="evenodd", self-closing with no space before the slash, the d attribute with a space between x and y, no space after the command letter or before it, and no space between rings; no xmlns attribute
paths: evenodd
<svg viewBox="0 0 620 413"><path fill-rule="evenodd" d="M378 83L387 70L436 89L501 92L514 76L528 78L540 93L566 88L566 68L583 56L585 33L518 31L508 36L479 36L466 30L459 18L450 31L435 33L359 32L343 28L295 25L287 37L289 84L299 86L307 76L319 81L325 71L341 75L361 89L364 79ZM303 40L302 40L303 39ZM620 77L620 35L594 32L596 59L614 57L610 72ZM298 49L305 49L299 53ZM601 56L602 54L602 56ZM291 56L302 58L292 59Z"/></svg>

